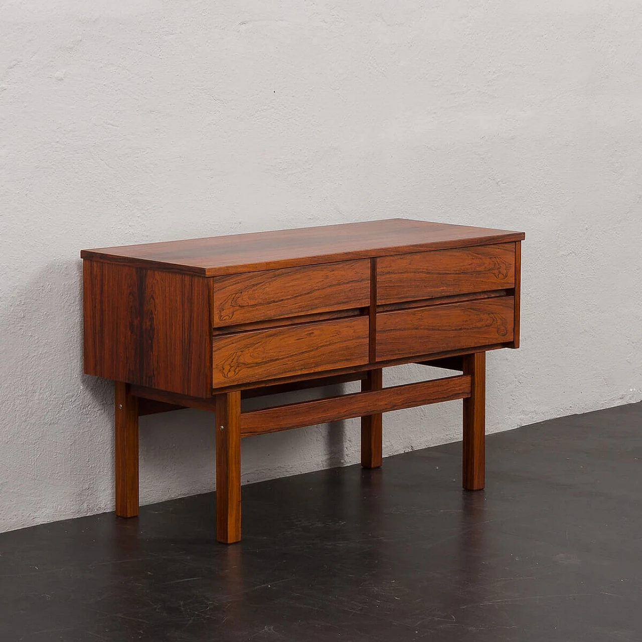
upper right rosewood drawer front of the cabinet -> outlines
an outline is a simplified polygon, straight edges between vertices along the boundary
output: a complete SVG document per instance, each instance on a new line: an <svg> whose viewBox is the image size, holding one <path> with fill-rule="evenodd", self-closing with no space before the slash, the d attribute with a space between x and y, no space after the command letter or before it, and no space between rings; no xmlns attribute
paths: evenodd
<svg viewBox="0 0 642 642"><path fill-rule="evenodd" d="M377 259L377 304L515 287L515 243Z"/></svg>

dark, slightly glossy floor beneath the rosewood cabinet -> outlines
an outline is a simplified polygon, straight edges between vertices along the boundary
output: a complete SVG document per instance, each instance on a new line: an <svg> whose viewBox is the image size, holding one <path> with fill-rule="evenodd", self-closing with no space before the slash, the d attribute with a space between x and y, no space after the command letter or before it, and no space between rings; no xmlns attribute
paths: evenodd
<svg viewBox="0 0 642 642"><path fill-rule="evenodd" d="M642 404L0 535L0 640L642 640Z"/></svg>

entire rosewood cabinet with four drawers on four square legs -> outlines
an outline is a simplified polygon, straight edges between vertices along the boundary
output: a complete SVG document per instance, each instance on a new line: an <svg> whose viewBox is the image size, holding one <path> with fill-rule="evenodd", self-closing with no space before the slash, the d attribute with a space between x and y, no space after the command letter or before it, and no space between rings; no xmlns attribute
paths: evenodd
<svg viewBox="0 0 642 642"><path fill-rule="evenodd" d="M216 537L241 539L241 437L464 399L464 489L484 486L485 354L519 344L521 232L390 219L83 250L85 372L116 382L116 514L138 514L138 418L216 413ZM424 363L459 376L383 388ZM241 398L361 392L241 412Z"/></svg>

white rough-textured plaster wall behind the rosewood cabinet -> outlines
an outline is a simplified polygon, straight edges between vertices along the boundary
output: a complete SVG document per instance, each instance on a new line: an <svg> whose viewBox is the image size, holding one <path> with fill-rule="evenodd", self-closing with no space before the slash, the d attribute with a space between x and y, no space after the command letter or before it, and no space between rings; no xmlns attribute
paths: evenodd
<svg viewBox="0 0 642 642"><path fill-rule="evenodd" d="M81 248L525 230L489 430L642 399L640 33L639 0L0 0L0 530L112 508ZM386 455L458 438L459 408L386 415ZM141 423L143 503L213 489L213 417ZM246 482L357 460L356 421L243 442Z"/></svg>

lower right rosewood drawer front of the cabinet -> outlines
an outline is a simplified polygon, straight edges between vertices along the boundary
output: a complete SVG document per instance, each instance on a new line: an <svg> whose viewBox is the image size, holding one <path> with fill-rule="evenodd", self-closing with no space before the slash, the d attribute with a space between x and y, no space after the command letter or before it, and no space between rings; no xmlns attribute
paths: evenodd
<svg viewBox="0 0 642 642"><path fill-rule="evenodd" d="M377 361L513 340L514 297L496 297L377 315Z"/></svg>

